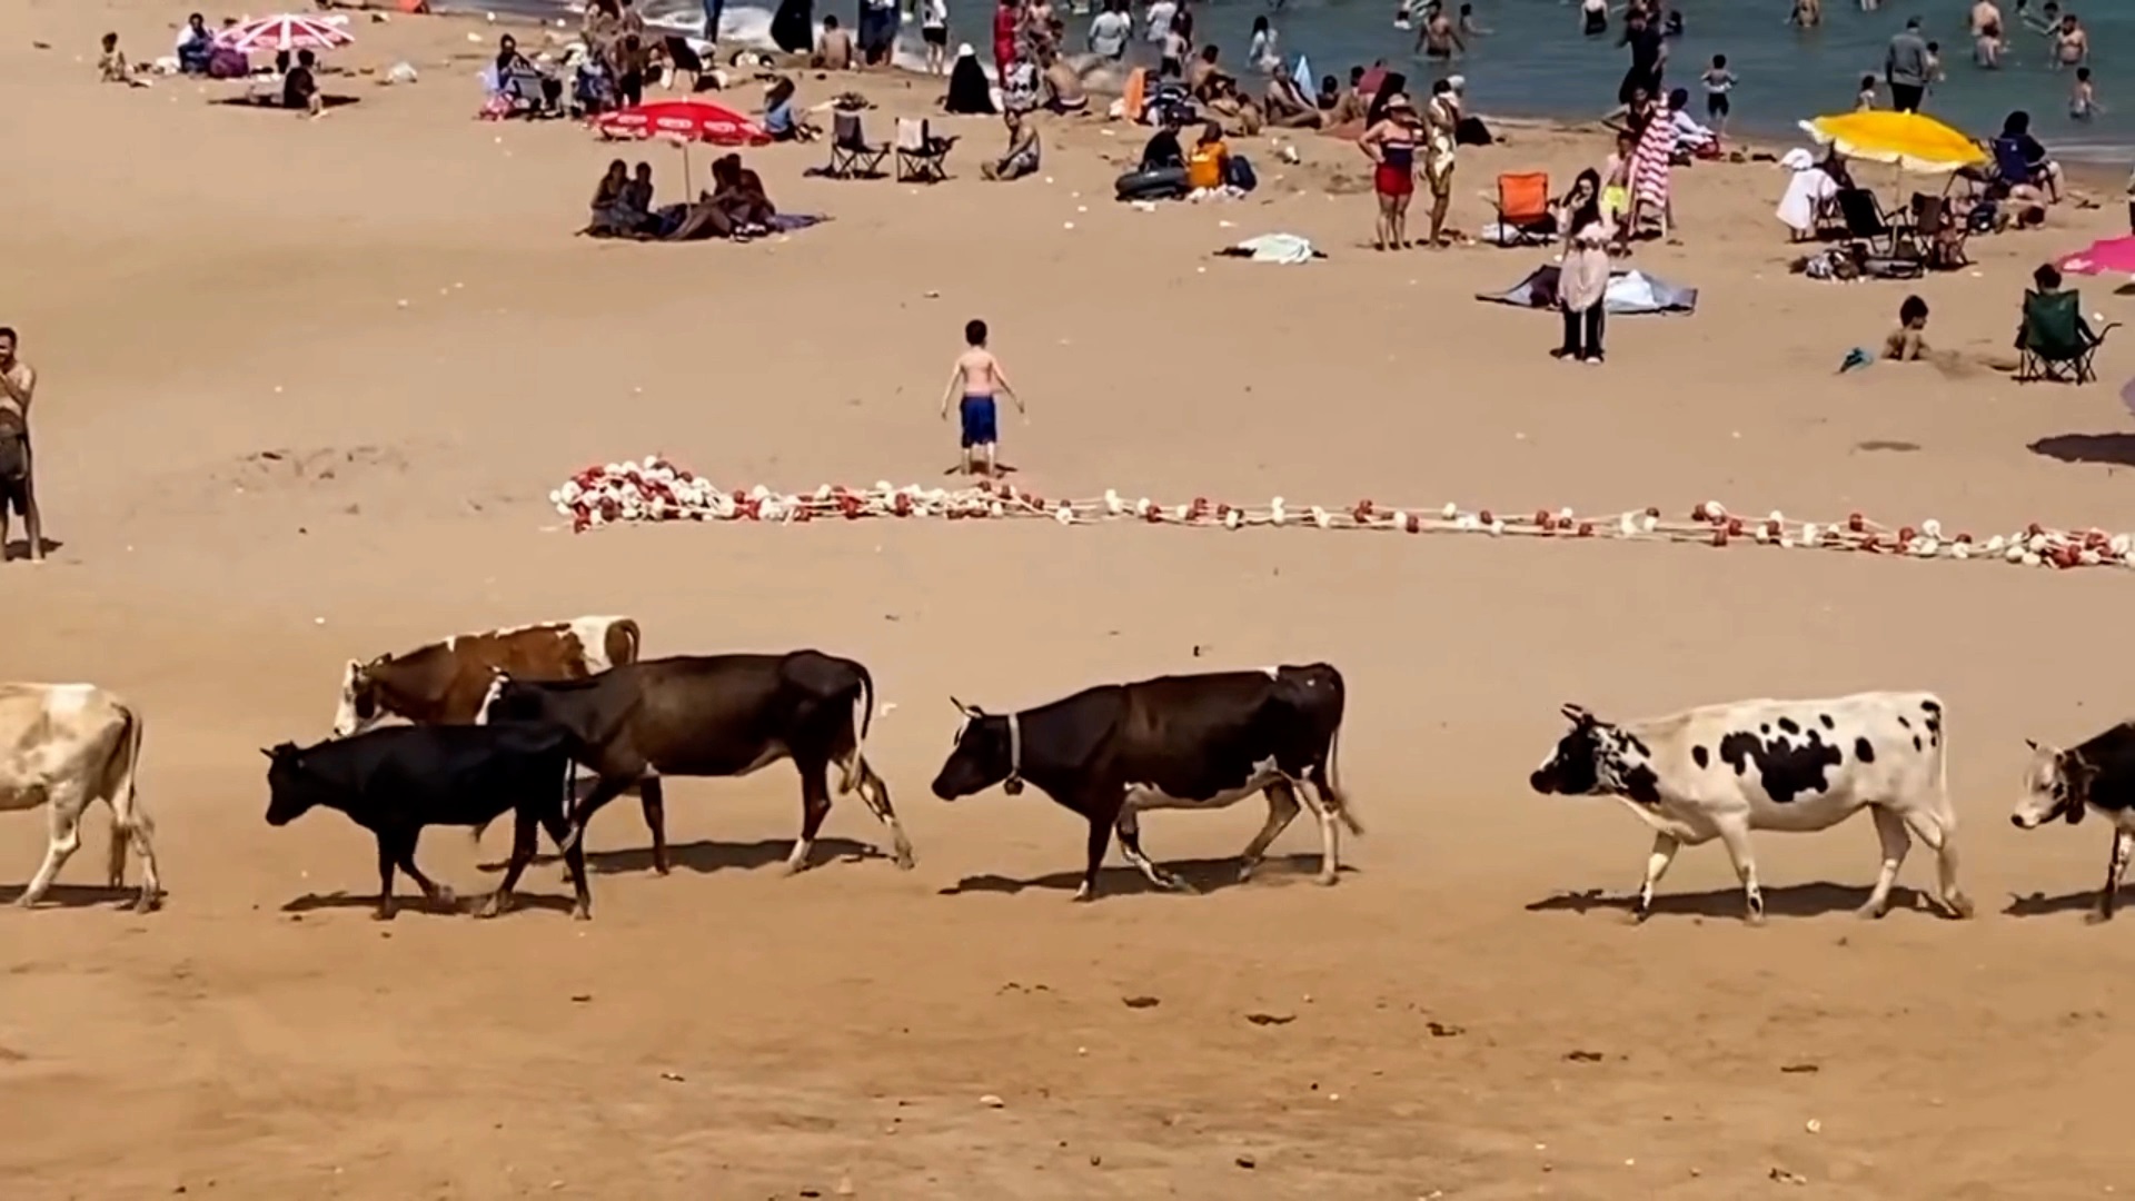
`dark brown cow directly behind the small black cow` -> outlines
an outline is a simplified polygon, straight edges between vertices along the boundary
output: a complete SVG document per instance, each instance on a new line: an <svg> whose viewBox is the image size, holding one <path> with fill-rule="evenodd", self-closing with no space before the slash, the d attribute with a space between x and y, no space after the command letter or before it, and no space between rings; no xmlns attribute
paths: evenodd
<svg viewBox="0 0 2135 1201"><path fill-rule="evenodd" d="M600 806L632 784L645 799L653 872L668 872L664 776L747 776L781 759L801 771L801 838L786 872L807 865L837 793L858 791L888 827L897 865L912 868L912 840L890 808L890 786L867 763L875 682L867 667L816 650L786 654L670 656L626 662L587 680L536 682L497 671L485 722L532 720L572 731L579 763L598 780L570 818L576 846Z"/></svg>

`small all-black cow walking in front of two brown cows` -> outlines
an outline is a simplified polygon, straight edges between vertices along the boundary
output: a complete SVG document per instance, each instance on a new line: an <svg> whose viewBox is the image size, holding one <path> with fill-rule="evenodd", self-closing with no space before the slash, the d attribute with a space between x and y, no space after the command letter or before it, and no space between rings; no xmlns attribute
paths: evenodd
<svg viewBox="0 0 2135 1201"><path fill-rule="evenodd" d="M378 836L378 917L393 917L393 868L408 872L431 904L450 906L453 889L414 865L414 844L425 825L483 827L515 814L512 861L504 883L489 893L483 917L510 908L519 874L534 859L534 827L564 846L572 917L594 917L585 889L585 855L566 842L566 774L576 746L562 729L497 727L386 727L346 739L299 748L284 742L267 757L267 825L288 825L314 806L342 810L348 821Z"/></svg>

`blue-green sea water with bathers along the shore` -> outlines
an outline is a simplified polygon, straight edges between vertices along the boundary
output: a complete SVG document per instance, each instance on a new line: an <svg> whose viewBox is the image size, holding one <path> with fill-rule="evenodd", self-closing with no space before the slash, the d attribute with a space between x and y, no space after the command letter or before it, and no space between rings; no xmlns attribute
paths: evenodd
<svg viewBox="0 0 2135 1201"><path fill-rule="evenodd" d="M687 32L702 30L700 0L638 0L647 19ZM858 24L860 0L818 0L816 19L837 15ZM1426 64L1416 53L1416 34L1394 28L1396 0L1206 0L1193 4L1196 36L1223 49L1223 62L1247 71L1245 47L1253 17L1268 17L1281 38L1285 62L1300 53L1315 75L1347 79L1351 66L1377 60L1405 71L1411 92L1430 79L1458 73L1467 79L1469 109L1522 118L1591 120L1616 103L1629 51L1618 45L1620 24L1606 36L1580 32L1576 0L1471 0L1475 19L1490 30L1471 38L1469 51L1448 64ZM1055 0L1068 21L1068 49L1085 47L1087 15L1074 15L1068 0ZM448 9L512 15L564 17L576 26L579 0L450 0ZM1458 11L1458 0L1448 4ZM1618 4L1620 6L1620 4ZM2043 0L2033 0L2037 13ZM2088 122L2069 115L2073 71L2052 66L2052 43L2022 26L2015 0L2000 0L2007 51L1998 71L1973 64L1966 30L1966 0L1883 0L1860 11L1857 0L1823 0L1823 26L1796 30L1787 24L1791 0L1674 0L1685 36L1670 41L1667 85L1689 88L1691 111L1704 115L1697 77L1714 53L1727 56L1736 73L1734 118L1738 132L1785 137L1798 122L1853 109L1862 75L1883 75L1883 49L1907 17L1919 17L1924 34L1941 43L1947 79L1928 92L1924 105L1949 124L1990 137L2013 109L2033 115L2033 130L2062 158L2126 162L2135 158L2135 0L2065 0L2062 6L2090 30L2090 66L2103 113ZM1140 15L1140 4L1136 4ZM728 4L722 41L769 45L771 9ZM982 0L950 0L950 41L971 43L991 60L993 6ZM1155 62L1149 45L1134 53ZM897 62L920 64L918 24L905 17ZM2116 68L2116 64L2120 64ZM1317 83L1317 81L1315 81ZM1887 103L1887 94L1885 94Z"/></svg>

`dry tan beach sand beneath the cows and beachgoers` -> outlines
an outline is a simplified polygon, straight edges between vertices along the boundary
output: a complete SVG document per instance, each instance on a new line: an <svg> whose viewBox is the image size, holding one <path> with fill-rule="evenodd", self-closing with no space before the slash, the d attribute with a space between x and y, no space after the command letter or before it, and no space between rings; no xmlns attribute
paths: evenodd
<svg viewBox="0 0 2135 1201"><path fill-rule="evenodd" d="M1258 150L1247 203L1140 214L1110 203L1097 156L1132 135L1048 126L1050 182L986 186L978 150L999 132L954 122L946 186L805 180L822 147L779 147L754 167L831 224L602 246L570 231L613 150L470 120L474 64L442 66L478 49L470 26L359 26L339 62L412 58L425 79L352 81L359 105L303 124L194 83L92 83L98 32L162 51L181 6L0 13L0 318L43 370L64 543L0 571L0 677L94 680L145 707L171 887L164 913L120 913L90 887L96 833L60 906L0 915L9 1199L1793 1195L1774 1171L1847 1199L2135 1188L2135 1041L2116 1032L2135 932L2079 917L2105 836L2005 821L2024 735L2126 714L2120 680L2090 671L2114 662L2122 573L1050 524L570 536L544 506L570 470L655 449L734 485L939 479L935 389L982 314L1035 410L1008 457L1046 494L1714 496L2118 530L2135 502L2116 468L2026 447L2126 453L2114 391L2135 340L2103 355L2107 387L1834 376L1907 288L1787 278L1770 167L1680 175L1682 244L1638 263L1704 306L1612 323L1603 370L1544 355L1554 316L1469 299L1541 252L1358 250L1369 197L1324 194L1358 160L1317 141L1307 169ZM1559 135L1473 154L1456 220L1480 224L1497 169L1563 177L1599 154ZM643 156L673 190L675 152ZM1975 244L1977 271L1919 284L1930 338L2005 346L2028 269L2116 212ZM1332 259L1206 256L1268 229ZM617 806L591 833L591 925L555 904L378 925L361 831L265 827L254 748L322 735L344 658L581 611L634 613L651 654L869 662L897 705L871 752L918 870L841 806L843 861L781 878L786 769L673 786L673 878ZM1343 771L1371 831L1337 889L1307 880L1300 825L1249 887L1151 895L1114 868L1108 898L1072 906L1063 810L924 791L950 690L1021 705L1311 658L1349 677ZM1527 793L1561 701L1610 716L1855 688L1949 701L1977 921L1849 917L1875 876L1866 821L1759 840L1766 930L1736 921L1714 848L1682 857L1642 930L1576 900L1623 895L1648 838L1612 804ZM1258 823L1255 806L1157 816L1146 840L1219 885ZM0 829L19 883L43 816ZM497 851L440 831L423 861L474 891ZM1928 870L1915 855L1904 880ZM562 895L555 868L527 883Z"/></svg>

